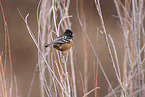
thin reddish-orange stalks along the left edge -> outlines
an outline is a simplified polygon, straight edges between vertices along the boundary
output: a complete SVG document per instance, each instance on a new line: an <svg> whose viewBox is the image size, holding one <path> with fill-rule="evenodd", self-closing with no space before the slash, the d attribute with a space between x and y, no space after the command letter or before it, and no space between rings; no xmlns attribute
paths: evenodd
<svg viewBox="0 0 145 97"><path fill-rule="evenodd" d="M5 33L5 46L4 46L4 64L2 61L3 57L3 51L1 52L0 55L0 96L1 97L12 97L15 93L13 93L13 73L12 73L12 58L11 58L11 48L10 48L10 36L9 36L9 31L8 31L8 25L6 22L5 14L4 14L4 9L2 6L2 3L0 1L0 9L2 11L2 16L3 16L3 22L4 22L4 33ZM10 67L10 78L9 81L6 80L6 73L8 72L7 68L7 55L9 56L9 67ZM15 79L16 80L16 79ZM10 83L10 86L8 86L8 83ZM16 84L16 83L15 83ZM17 88L17 86L16 86ZM18 91L16 89L16 93L18 94ZM15 95L18 97L18 95Z"/></svg>

